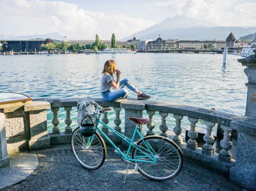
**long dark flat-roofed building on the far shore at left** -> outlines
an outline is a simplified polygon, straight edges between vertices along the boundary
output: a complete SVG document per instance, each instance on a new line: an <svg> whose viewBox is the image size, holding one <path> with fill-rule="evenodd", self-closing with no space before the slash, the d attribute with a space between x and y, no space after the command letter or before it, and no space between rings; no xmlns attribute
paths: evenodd
<svg viewBox="0 0 256 191"><path fill-rule="evenodd" d="M23 51L39 51L41 44L45 40L1 40L3 44L3 51L14 51L14 52L23 52Z"/></svg>

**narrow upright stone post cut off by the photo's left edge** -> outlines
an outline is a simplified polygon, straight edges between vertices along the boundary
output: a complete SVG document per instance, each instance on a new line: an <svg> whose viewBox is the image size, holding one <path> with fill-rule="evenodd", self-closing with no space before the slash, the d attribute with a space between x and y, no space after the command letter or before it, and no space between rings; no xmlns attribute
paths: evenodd
<svg viewBox="0 0 256 191"><path fill-rule="evenodd" d="M5 112L0 109L0 168L8 166L10 158L7 152Z"/></svg>

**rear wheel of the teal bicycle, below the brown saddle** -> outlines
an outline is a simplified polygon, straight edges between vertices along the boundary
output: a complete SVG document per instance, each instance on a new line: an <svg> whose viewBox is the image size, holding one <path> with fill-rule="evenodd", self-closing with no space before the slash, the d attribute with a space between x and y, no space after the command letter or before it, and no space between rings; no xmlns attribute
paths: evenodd
<svg viewBox="0 0 256 191"><path fill-rule="evenodd" d="M145 154L137 149L133 148L132 158L145 160L144 162L137 162L139 172L154 180L168 180L175 177L183 166L183 157L180 148L163 136L148 136L143 140L137 142L138 147L150 156L154 156L157 159L156 163L148 163L152 161L149 157L145 157ZM151 151L149 151L149 149Z"/></svg>

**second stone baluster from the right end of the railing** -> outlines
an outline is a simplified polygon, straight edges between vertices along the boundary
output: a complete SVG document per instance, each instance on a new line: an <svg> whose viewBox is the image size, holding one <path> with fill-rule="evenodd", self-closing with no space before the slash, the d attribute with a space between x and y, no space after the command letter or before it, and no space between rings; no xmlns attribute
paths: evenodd
<svg viewBox="0 0 256 191"><path fill-rule="evenodd" d="M214 152L214 148L211 145L214 142L212 130L216 123L210 122L210 121L204 121L204 124L206 125L206 134L203 137L205 144L202 147L202 153L211 156Z"/></svg>

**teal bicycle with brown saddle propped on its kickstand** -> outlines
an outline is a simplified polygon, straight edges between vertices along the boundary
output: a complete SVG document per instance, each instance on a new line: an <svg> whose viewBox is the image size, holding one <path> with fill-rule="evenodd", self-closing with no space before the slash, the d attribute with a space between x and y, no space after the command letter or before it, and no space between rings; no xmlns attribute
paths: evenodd
<svg viewBox="0 0 256 191"><path fill-rule="evenodd" d="M73 131L71 136L72 152L76 160L83 167L97 169L104 163L107 148L102 138L103 136L115 148L115 152L120 154L123 161L128 162L129 165L134 164L135 170L138 170L142 175L150 179L168 180L175 177L181 171L183 166L182 151L176 143L163 136L152 135L143 137L141 134L139 125L146 124L149 121L148 118L129 117L137 123L133 137L130 139L100 121L100 114L106 110L111 110L110 108L102 108L93 100L89 102L99 107L94 112L87 113L83 118L93 121L93 125L90 125L91 129L85 129L87 131L92 130L92 135L84 136L83 129L81 128L82 122L80 121L78 123L79 126ZM128 149L121 151L98 127L99 124L112 131L122 141L129 143ZM140 137L140 140L135 141L137 135Z"/></svg>

